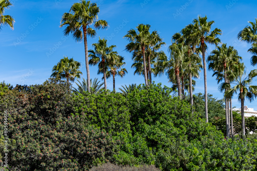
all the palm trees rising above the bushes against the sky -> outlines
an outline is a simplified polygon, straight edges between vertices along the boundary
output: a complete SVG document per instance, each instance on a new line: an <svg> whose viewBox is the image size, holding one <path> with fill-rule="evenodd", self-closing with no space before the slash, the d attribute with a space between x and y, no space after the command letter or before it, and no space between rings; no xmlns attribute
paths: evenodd
<svg viewBox="0 0 257 171"><path fill-rule="evenodd" d="M10 25L13 29L15 22L12 16L3 15L4 10L12 4L9 0L0 0L0 30L3 26ZM96 3L82 0L74 3L70 11L62 15L60 27L65 27L64 35L72 34L77 42L84 40L85 60L87 79L83 78L82 83L76 83L78 89L74 88L74 92L88 91L97 93L102 89L107 89L106 79L113 76L113 90L115 91L115 76L124 77L127 70L124 68L126 64L124 57L114 51L115 45L107 46L106 39L100 39L97 43L92 44L93 49L88 50L87 36L96 37L96 30L106 29L108 23L105 20L98 20L99 7ZM163 39L157 31L150 32L149 24L139 24L136 29L127 31L123 37L129 41L125 50L132 53L132 68L135 68L135 74L144 75L145 85L152 84L153 76L167 75L168 80L173 87L178 89L180 99L185 97L185 89L190 95L190 104L193 105L193 91L196 84L192 78L198 78L200 70L204 70L204 88L205 88L205 117L208 122L208 105L207 105L207 78L206 78L206 59L205 51L208 44L215 44L216 49L213 50L207 58L208 69L213 70L213 76L216 76L217 82L221 83L219 89L224 91L225 98L225 116L227 137L230 138L230 132L233 137L233 115L232 115L232 97L238 93L238 100L241 101L242 130L245 135L244 125L244 100L247 98L250 102L257 96L257 86L252 85L253 79L257 76L257 70L254 69L246 74L246 68L242 62L242 57L234 47L221 44L218 35L222 31L218 28L212 30L214 21L207 21L207 17L198 16L180 32L172 36L172 45L169 46L168 52L170 57L159 51L163 45ZM237 37L241 41L251 43L248 50L253 56L251 64L257 64L257 19L255 22L249 22L250 25L241 30ZM221 44L221 46L218 46ZM203 65L200 56L202 56ZM89 59L90 58L90 59ZM98 66L98 74L103 74L104 83L95 79L92 85L90 79L89 65ZM80 63L73 58L64 57L52 69L51 77L60 77L74 82L75 78L82 75L79 71ZM224 82L223 82L224 80ZM223 83L222 83L223 82ZM234 85L234 87L232 87ZM126 86L120 90L124 93L132 91L135 85ZM229 107L230 106L230 107ZM230 113L230 114L229 114ZM231 128L231 129L230 129Z"/></svg>

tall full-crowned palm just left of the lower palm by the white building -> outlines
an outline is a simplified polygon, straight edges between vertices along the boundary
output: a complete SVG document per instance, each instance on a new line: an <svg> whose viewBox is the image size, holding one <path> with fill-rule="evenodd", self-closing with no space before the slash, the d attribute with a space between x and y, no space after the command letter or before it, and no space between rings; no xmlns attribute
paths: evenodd
<svg viewBox="0 0 257 171"><path fill-rule="evenodd" d="M213 70L214 75L217 75L218 77L224 77L224 82L228 83L227 71L229 70L229 66L238 63L241 59L242 57L238 56L237 50L235 50L234 47L227 47L227 44L223 43L221 46L216 46L216 49L213 50L208 56L208 69ZM217 79L219 82L220 78ZM225 89L225 91L227 91L227 89ZM230 117L228 101L229 98L225 96L226 136L230 138Z"/></svg>

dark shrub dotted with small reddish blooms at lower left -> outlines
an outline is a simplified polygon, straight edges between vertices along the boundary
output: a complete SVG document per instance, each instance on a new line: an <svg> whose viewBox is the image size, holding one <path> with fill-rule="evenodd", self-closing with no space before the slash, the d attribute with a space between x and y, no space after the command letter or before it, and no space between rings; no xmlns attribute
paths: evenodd
<svg viewBox="0 0 257 171"><path fill-rule="evenodd" d="M86 114L72 113L74 104L69 85L50 79L43 85L31 86L31 93L25 100L19 98L24 93L13 90L1 97L0 109L9 113L10 168L88 170L98 163L113 161L116 141L111 134L89 125ZM1 135L3 126L1 122Z"/></svg>

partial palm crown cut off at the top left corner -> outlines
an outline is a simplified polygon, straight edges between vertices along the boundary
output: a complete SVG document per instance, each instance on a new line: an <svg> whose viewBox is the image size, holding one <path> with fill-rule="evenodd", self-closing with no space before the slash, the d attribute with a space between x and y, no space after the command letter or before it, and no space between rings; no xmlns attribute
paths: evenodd
<svg viewBox="0 0 257 171"><path fill-rule="evenodd" d="M5 9L9 9L12 6L12 3L9 0L0 1L0 30L3 26L9 25L13 30L14 18L10 15L3 15Z"/></svg>

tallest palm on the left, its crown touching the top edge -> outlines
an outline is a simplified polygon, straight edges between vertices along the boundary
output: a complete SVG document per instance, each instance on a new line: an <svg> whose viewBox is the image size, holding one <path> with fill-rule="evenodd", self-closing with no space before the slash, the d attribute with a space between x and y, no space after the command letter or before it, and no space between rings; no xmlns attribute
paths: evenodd
<svg viewBox="0 0 257 171"><path fill-rule="evenodd" d="M87 35L91 38L96 36L96 31L90 27L93 25L96 29L105 29L108 23L105 20L98 20L99 7L96 3L82 0L79 3L74 3L69 13L64 13L61 19L60 27L66 26L64 35L72 33L73 38L77 42L81 42L84 38L85 58L87 69L87 88L90 92L90 73L88 63L88 48Z"/></svg>

